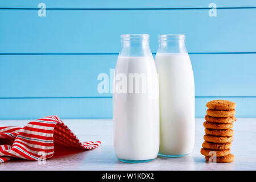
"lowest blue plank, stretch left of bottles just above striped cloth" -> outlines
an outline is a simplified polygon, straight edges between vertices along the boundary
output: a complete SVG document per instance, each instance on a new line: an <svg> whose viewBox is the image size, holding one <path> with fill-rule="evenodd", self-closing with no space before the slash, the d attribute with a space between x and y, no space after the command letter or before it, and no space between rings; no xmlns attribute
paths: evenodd
<svg viewBox="0 0 256 182"><path fill-rule="evenodd" d="M0 99L0 119L112 118L112 98Z"/></svg>

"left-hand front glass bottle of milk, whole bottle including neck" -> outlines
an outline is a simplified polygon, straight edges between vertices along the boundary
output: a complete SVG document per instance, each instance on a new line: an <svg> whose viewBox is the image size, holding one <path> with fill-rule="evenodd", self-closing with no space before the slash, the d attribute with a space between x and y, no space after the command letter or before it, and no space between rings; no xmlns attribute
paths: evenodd
<svg viewBox="0 0 256 182"><path fill-rule="evenodd" d="M114 76L114 149L122 162L153 160L159 150L159 88L149 35L121 35Z"/></svg>

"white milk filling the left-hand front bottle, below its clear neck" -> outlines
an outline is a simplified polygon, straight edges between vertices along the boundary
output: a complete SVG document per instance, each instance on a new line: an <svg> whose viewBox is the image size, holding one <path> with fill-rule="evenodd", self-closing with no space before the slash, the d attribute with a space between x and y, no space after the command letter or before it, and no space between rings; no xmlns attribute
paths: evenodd
<svg viewBox="0 0 256 182"><path fill-rule="evenodd" d="M143 84L139 84L139 93L113 93L115 154L121 160L155 159L159 150L159 88L154 59L119 56L115 78L119 73L127 77L127 92L128 74L144 73L146 92L142 93Z"/></svg>

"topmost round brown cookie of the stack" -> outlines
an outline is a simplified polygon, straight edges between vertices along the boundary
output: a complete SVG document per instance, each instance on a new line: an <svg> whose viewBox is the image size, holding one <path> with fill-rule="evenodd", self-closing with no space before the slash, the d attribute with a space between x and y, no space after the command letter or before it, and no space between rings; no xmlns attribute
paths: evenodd
<svg viewBox="0 0 256 182"><path fill-rule="evenodd" d="M231 110L235 109L237 104L232 101L214 100L207 102L206 106L213 110Z"/></svg>

